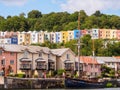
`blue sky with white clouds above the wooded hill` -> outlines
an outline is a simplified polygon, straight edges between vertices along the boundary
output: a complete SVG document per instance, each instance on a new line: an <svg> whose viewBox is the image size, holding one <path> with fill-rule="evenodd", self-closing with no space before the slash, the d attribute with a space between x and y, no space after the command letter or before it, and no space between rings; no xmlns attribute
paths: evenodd
<svg viewBox="0 0 120 90"><path fill-rule="evenodd" d="M96 10L104 14L120 16L120 0L0 0L0 16L7 17L39 10L42 14L51 12L73 13L84 10L87 15Z"/></svg>

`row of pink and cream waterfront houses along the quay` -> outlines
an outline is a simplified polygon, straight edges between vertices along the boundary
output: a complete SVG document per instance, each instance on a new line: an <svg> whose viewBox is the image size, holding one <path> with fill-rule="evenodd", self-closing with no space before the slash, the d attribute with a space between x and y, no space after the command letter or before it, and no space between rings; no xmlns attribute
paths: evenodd
<svg viewBox="0 0 120 90"><path fill-rule="evenodd" d="M78 62L80 60L80 62ZM49 49L39 46L4 45L0 47L0 75L25 73L26 77L57 70L78 71L83 76L98 77L103 64L115 72L120 70L120 57L80 56L69 48Z"/></svg>

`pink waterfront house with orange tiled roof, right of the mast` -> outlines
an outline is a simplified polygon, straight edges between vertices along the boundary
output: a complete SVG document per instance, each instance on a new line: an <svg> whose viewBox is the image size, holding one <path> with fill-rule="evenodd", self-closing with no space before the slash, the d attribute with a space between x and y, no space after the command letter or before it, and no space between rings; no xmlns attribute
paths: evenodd
<svg viewBox="0 0 120 90"><path fill-rule="evenodd" d="M84 76L89 78L97 77L101 75L101 64L91 56L81 56L80 62L83 66Z"/></svg>

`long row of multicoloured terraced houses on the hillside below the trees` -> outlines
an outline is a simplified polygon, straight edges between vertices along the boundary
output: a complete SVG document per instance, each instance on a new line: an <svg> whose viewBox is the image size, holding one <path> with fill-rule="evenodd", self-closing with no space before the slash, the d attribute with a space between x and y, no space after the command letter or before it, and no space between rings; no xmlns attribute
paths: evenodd
<svg viewBox="0 0 120 90"><path fill-rule="evenodd" d="M44 43L46 40L52 43L66 43L72 39L78 39L86 34L93 39L120 39L120 30L91 29L68 30L60 32L29 31L29 32L0 32L0 43L30 45L32 43Z"/></svg>

